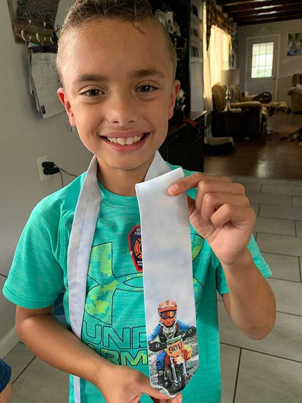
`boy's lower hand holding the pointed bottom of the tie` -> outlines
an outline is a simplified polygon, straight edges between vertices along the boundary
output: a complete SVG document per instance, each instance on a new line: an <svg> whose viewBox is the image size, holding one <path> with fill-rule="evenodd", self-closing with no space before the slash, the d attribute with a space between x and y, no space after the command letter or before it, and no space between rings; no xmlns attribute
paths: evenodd
<svg viewBox="0 0 302 403"><path fill-rule="evenodd" d="M103 372L103 371L102 371ZM103 393L107 403L138 403L142 394L149 395L155 403L181 403L182 395L172 400L150 385L143 373L123 365L110 365L106 374L96 374L95 385Z"/></svg>

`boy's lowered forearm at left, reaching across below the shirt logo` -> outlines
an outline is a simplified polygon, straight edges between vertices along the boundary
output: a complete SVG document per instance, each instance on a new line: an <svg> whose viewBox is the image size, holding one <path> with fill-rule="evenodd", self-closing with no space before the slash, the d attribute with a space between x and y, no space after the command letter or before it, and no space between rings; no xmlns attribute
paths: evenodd
<svg viewBox="0 0 302 403"><path fill-rule="evenodd" d="M96 386L96 375L113 365L67 330L54 315L28 317L18 330L19 337L41 360Z"/></svg>

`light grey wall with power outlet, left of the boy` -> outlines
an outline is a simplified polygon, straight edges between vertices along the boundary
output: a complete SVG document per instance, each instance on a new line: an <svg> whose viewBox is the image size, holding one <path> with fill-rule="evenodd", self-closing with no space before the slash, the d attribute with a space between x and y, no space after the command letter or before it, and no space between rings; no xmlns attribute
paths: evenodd
<svg viewBox="0 0 302 403"><path fill-rule="evenodd" d="M55 24L62 24L73 0L61 0ZM36 159L48 155L73 174L84 172L92 158L77 131L70 131L62 112L43 120L29 93L26 45L15 43L6 1L0 2L0 289L11 267L15 248L34 206L61 187L57 173L41 182ZM55 25L56 26L56 25ZM64 185L71 176L62 174ZM0 357L10 343L4 337L15 324L15 305L0 293ZM13 346L11 346L13 347Z"/></svg>

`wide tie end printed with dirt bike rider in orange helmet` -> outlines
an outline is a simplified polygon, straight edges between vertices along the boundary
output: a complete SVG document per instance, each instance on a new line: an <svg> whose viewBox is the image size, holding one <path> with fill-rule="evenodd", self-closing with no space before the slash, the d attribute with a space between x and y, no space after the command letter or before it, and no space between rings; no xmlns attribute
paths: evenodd
<svg viewBox="0 0 302 403"><path fill-rule="evenodd" d="M177 168L135 185L139 205L150 384L176 396L199 367L186 193Z"/></svg>

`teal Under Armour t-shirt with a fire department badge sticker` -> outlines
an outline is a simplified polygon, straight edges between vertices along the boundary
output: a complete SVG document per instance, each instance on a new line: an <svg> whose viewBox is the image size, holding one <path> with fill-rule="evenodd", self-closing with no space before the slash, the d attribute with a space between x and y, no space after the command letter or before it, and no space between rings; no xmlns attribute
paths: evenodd
<svg viewBox="0 0 302 403"><path fill-rule="evenodd" d="M184 170L185 176L192 173ZM67 247L85 174L35 206L20 236L3 289L4 296L14 304L40 309L52 305L64 287L63 304L70 331ZM82 341L115 364L128 365L149 376L137 198L114 194L100 182L99 186L102 203L88 267ZM196 188L188 194L195 198ZM216 290L220 295L229 291L221 264L192 226L191 244L200 367L183 390L183 401L219 403ZM269 277L272 273L253 236L248 247L263 276ZM148 396L141 397L142 403L150 401ZM70 375L69 403L73 402ZM105 399L100 390L81 379L81 403L102 402Z"/></svg>

